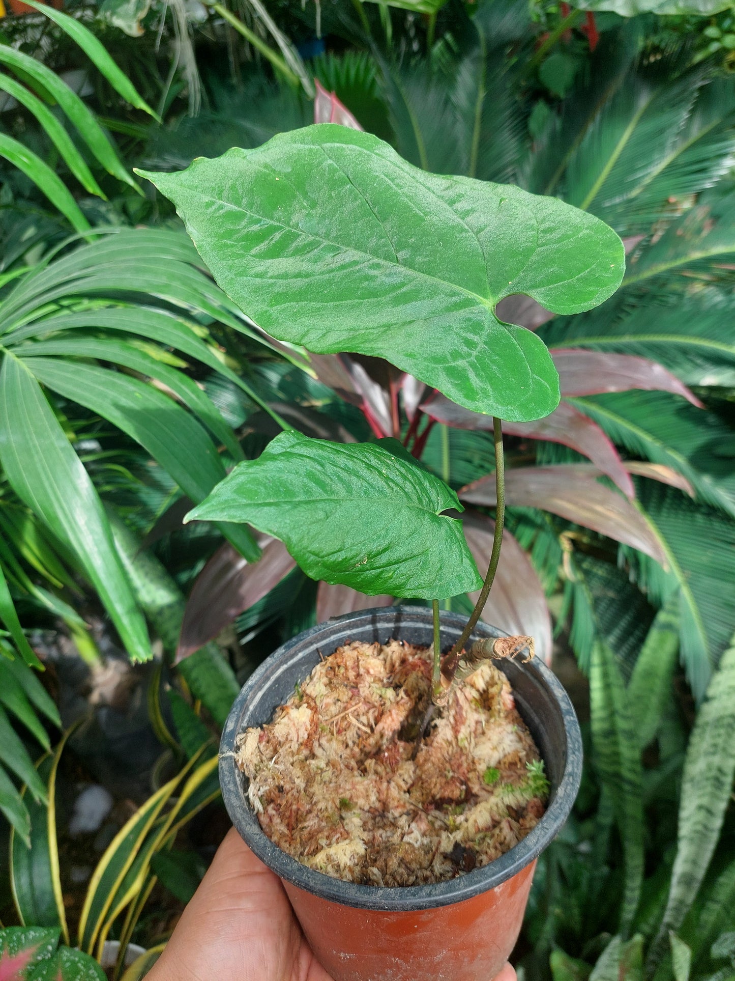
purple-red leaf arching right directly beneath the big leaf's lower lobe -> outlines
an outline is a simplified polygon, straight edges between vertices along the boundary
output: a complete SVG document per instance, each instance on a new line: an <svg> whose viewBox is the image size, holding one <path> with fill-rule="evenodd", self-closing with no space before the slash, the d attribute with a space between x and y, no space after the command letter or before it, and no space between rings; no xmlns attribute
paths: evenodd
<svg viewBox="0 0 735 981"><path fill-rule="evenodd" d="M492 416L484 416L479 412L451 402L444 395L436 395L421 405L421 409L440 423L454 426L456 429L492 430ZM604 474L613 481L627 497L634 497L633 482L625 470L613 442L600 429L596 422L589 419L579 409L560 402L557 409L544 419L532 423L503 422L503 432L509 436L520 436L528 439L546 439L549 442L561 442L564 446L575 449L587 456Z"/></svg>

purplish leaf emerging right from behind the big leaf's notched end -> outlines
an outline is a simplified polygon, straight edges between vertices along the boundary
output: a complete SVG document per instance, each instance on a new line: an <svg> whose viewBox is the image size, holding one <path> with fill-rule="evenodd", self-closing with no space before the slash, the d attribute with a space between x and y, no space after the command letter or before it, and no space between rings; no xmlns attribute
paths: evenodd
<svg viewBox="0 0 735 981"><path fill-rule="evenodd" d="M563 395L596 395L604 391L670 391L682 395L701 409L702 402L670 371L632 354L608 354L604 351L584 351L555 348L551 352L559 372Z"/></svg>

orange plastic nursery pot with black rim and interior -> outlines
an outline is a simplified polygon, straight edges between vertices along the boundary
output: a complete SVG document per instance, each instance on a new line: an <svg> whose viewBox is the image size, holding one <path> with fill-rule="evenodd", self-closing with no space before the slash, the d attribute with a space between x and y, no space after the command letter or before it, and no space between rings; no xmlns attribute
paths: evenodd
<svg viewBox="0 0 735 981"><path fill-rule="evenodd" d="M466 619L442 613L442 646ZM472 639L504 637L478 624ZM319 624L279 647L236 698L221 739L224 803L244 841L279 876L312 950L335 981L491 981L515 946L537 856L563 826L579 788L582 744L574 710L554 674L537 660L500 660L515 705L546 766L546 813L510 852L483 868L429 886L380 888L343 882L302 865L264 834L234 761L236 737L270 721L324 656L350 641L391 638L428 646L431 610L392 606Z"/></svg>

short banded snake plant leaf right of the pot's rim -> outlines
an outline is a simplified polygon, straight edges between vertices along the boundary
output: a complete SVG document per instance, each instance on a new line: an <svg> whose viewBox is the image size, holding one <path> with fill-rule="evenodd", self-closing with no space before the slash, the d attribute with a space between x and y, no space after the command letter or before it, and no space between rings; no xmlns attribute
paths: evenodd
<svg viewBox="0 0 735 981"><path fill-rule="evenodd" d="M671 699L679 651L677 612L678 601L673 597L657 614L628 682L631 727L641 749L654 740Z"/></svg>

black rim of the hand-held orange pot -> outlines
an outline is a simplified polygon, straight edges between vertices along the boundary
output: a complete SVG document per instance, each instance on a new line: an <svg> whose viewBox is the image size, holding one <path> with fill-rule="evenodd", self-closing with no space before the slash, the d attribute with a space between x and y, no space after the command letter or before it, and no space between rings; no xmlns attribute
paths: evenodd
<svg viewBox="0 0 735 981"><path fill-rule="evenodd" d="M281 645L259 665L248 678L240 694L235 699L222 730L220 744L220 783L222 798L235 828L245 843L280 879L285 879L305 892L319 896L323 900L340 905L363 909L416 910L430 909L454 903L462 903L481 893L495 889L517 872L534 861L556 837L564 825L579 790L582 775L582 737L579 731L571 701L556 675L545 664L534 660L522 665L522 670L536 675L547 692L557 703L564 725L566 753L564 772L554 797L543 817L535 828L520 841L515 848L489 862L482 868L475 868L465 875L444 882L420 886L364 886L346 882L325 875L315 869L302 865L287 852L283 852L261 828L260 822L247 800L244 790L244 777L234 759L235 740L240 734L240 720L246 703L257 694L262 681L270 678L271 665L275 660L283 663L278 673L290 667L288 654L305 642L319 640L328 645L330 635L339 633L339 628L347 623L372 620L385 621L400 610L403 617L412 615L419 620L431 618L430 608L423 606L383 606L368 610L358 610L344 616L332 617L304 631ZM442 612L442 628L454 628L457 633L466 624L466 617L456 613ZM356 624L357 626L357 624ZM478 623L472 637L504 637L504 631L484 623Z"/></svg>

